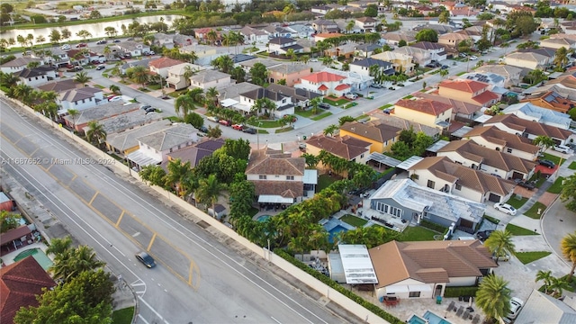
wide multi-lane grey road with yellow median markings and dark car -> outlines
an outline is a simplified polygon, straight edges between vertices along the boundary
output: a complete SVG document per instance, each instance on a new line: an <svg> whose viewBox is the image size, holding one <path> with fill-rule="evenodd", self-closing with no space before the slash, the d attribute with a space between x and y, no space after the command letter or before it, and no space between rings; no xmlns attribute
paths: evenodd
<svg viewBox="0 0 576 324"><path fill-rule="evenodd" d="M139 295L138 322L358 322L284 284L229 242L221 244L202 223L184 220L105 166L86 164L87 156L71 142L1 104L0 154L10 161L4 171L132 285ZM156 268L134 259L145 249L157 258Z"/></svg>

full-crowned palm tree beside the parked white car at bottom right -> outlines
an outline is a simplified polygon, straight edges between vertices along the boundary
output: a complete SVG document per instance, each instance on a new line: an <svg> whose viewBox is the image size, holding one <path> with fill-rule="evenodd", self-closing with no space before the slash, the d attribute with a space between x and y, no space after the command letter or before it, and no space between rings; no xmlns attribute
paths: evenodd
<svg viewBox="0 0 576 324"><path fill-rule="evenodd" d="M508 282L503 277L485 276L476 292L476 305L489 318L500 320L510 311L510 293Z"/></svg>

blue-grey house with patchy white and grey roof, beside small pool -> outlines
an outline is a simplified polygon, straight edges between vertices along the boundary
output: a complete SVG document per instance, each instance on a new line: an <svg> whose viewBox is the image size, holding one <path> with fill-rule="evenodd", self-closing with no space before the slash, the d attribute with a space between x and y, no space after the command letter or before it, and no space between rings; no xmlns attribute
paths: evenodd
<svg viewBox="0 0 576 324"><path fill-rule="evenodd" d="M428 220L449 228L474 231L482 222L486 206L462 197L442 193L416 184L410 179L389 180L370 196L369 210L363 212L372 219L398 219L420 223Z"/></svg>

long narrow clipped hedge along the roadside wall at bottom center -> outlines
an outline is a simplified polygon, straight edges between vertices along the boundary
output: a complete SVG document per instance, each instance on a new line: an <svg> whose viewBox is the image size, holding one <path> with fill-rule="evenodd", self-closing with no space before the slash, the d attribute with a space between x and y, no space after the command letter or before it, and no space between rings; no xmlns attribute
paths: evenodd
<svg viewBox="0 0 576 324"><path fill-rule="evenodd" d="M295 257L289 255L286 251L282 249L275 249L274 253L278 257L284 258L284 260L290 262L294 266L298 266L301 270L306 272L307 274L313 276L314 278L320 280L322 283L329 285L331 288L334 288L338 293L342 293L343 295L347 296L352 301L356 302L360 306L364 307L368 311L374 312L374 314L380 316L384 320L388 320L392 324L401 324L404 323L403 321L395 318L393 315L387 313L380 307L374 305L372 302L366 302L364 298L356 295L356 293L352 293L334 280L330 279L326 275L320 274L320 272L312 269L310 266L304 265L302 262L298 261Z"/></svg>

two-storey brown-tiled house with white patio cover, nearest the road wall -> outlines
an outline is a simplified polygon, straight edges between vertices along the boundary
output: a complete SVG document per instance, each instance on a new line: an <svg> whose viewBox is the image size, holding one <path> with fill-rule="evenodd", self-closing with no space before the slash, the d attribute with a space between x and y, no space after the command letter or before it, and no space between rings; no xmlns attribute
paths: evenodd
<svg viewBox="0 0 576 324"><path fill-rule="evenodd" d="M291 205L313 196L318 171L306 169L304 157L292 157L269 148L253 149L246 179L254 184L259 203Z"/></svg>

